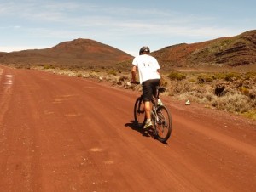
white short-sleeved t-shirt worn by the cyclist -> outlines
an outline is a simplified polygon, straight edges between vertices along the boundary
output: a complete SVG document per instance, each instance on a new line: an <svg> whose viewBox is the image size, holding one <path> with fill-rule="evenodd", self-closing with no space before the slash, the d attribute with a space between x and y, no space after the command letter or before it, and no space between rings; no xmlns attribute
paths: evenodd
<svg viewBox="0 0 256 192"><path fill-rule="evenodd" d="M160 65L154 57L148 54L138 55L133 59L132 65L138 68L140 83L148 79L160 79L160 74L157 71L160 69Z"/></svg>

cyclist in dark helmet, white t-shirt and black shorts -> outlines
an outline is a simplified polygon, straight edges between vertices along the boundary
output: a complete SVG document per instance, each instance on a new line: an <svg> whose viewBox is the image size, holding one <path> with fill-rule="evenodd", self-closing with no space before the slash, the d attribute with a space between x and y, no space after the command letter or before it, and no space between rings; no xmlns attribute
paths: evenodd
<svg viewBox="0 0 256 192"><path fill-rule="evenodd" d="M157 59L149 54L148 46L143 46L139 55L133 59L131 68L131 82L136 82L136 72L138 70L140 83L143 85L143 102L147 118L144 129L152 127L150 101L154 95L155 87L160 84L160 65Z"/></svg>

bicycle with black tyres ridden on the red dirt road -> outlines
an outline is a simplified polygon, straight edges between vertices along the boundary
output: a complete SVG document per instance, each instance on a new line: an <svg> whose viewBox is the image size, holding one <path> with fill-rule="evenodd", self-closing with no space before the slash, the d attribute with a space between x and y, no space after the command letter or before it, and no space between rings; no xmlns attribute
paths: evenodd
<svg viewBox="0 0 256 192"><path fill-rule="evenodd" d="M151 100L151 121L153 121L154 138L164 143L172 133L172 116L165 105L158 105L160 93L166 92L165 87L156 87L155 97ZM137 98L134 104L134 119L137 127L143 127L146 122L143 95Z"/></svg>

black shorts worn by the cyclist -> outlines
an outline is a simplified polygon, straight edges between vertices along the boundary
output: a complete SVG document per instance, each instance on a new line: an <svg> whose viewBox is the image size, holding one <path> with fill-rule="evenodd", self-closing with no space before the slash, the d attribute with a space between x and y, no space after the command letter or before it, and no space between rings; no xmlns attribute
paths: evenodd
<svg viewBox="0 0 256 192"><path fill-rule="evenodd" d="M159 86L160 79L150 79L143 82L143 101L150 101L155 94L155 87Z"/></svg>

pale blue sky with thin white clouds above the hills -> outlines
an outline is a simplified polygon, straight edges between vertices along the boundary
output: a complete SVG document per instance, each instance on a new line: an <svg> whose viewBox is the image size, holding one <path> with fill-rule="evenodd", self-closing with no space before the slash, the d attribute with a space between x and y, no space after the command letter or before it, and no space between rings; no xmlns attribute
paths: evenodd
<svg viewBox="0 0 256 192"><path fill-rule="evenodd" d="M0 0L0 52L93 39L136 56L256 29L255 0Z"/></svg>

